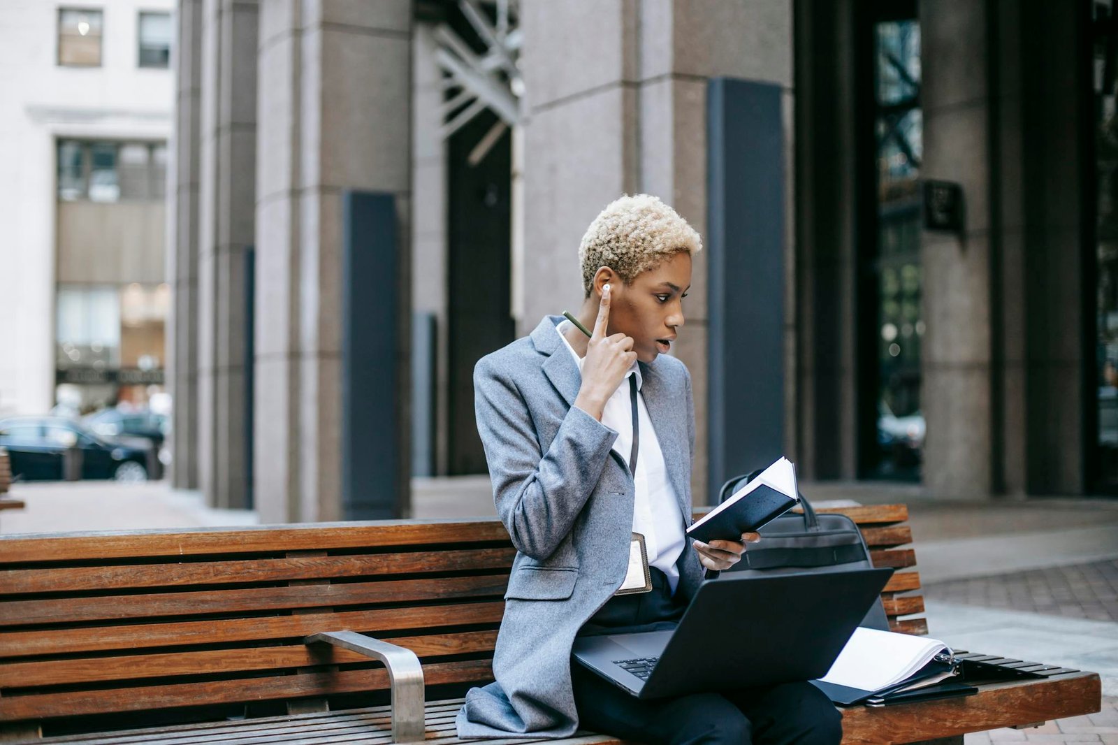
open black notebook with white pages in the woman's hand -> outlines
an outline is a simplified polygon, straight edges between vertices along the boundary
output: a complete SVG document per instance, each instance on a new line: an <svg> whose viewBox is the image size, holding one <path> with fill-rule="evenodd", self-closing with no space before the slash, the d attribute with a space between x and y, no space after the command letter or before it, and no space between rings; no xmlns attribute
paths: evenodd
<svg viewBox="0 0 1118 745"><path fill-rule="evenodd" d="M741 540L769 520L799 504L796 468L786 458L760 472L729 499L688 528L688 535L703 543Z"/></svg>

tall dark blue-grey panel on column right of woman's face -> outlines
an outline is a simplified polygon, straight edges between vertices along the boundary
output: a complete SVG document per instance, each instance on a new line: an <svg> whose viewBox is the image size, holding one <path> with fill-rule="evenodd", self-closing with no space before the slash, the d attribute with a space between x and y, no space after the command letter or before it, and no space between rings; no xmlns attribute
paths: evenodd
<svg viewBox="0 0 1118 745"><path fill-rule="evenodd" d="M732 78L708 88L707 503L726 479L784 451L780 93Z"/></svg>

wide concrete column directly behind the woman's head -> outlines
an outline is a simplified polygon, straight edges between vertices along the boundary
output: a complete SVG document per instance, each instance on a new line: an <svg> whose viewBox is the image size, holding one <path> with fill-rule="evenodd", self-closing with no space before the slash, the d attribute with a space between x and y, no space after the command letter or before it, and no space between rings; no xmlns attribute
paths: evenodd
<svg viewBox="0 0 1118 745"><path fill-rule="evenodd" d="M528 120L521 281L531 292L524 295L518 333L530 331L543 314L581 303L579 239L598 211L622 194L654 194L705 233L711 77L785 88L786 206L792 209L790 2L534 0L522 3L521 11ZM790 211L786 224L792 225ZM792 230L787 245L790 252ZM795 264L786 266L790 283ZM707 498L705 274L700 254L676 352L694 384L695 503ZM786 296L790 302L794 293ZM789 372L793 310L786 312Z"/></svg>

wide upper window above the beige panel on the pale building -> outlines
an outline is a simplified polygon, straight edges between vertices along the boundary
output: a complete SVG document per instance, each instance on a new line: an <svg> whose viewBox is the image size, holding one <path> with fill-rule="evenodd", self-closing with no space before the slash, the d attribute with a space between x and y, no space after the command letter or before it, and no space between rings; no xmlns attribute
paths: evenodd
<svg viewBox="0 0 1118 745"><path fill-rule="evenodd" d="M167 145L162 142L58 141L58 199L162 199Z"/></svg>

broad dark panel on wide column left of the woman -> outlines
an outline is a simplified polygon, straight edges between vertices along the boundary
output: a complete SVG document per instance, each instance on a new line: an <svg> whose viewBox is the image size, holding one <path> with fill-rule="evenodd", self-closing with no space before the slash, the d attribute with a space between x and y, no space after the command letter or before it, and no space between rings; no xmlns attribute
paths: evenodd
<svg viewBox="0 0 1118 745"><path fill-rule="evenodd" d="M401 517L400 249L390 194L342 197L342 515Z"/></svg>

